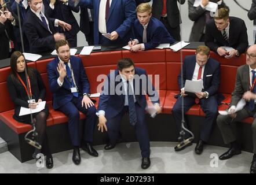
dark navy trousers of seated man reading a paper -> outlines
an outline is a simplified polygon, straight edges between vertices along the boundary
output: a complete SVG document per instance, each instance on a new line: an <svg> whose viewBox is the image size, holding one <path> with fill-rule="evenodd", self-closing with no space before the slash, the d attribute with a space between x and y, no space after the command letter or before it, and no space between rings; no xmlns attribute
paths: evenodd
<svg viewBox="0 0 256 185"><path fill-rule="evenodd" d="M180 133L181 131L181 119L182 119L182 106L181 106L181 97L179 96L174 107L173 107L173 117L177 125L177 130ZM206 117L203 122L203 128L200 131L200 139L204 142L207 142L210 138L211 131L218 115L218 103L215 96L209 98L200 99L200 106L203 112L206 114ZM195 104L195 98L193 97L184 97L184 113L186 113L191 106ZM184 123L185 128L188 128L188 124ZM190 134L185 131L185 138L189 138Z"/></svg>

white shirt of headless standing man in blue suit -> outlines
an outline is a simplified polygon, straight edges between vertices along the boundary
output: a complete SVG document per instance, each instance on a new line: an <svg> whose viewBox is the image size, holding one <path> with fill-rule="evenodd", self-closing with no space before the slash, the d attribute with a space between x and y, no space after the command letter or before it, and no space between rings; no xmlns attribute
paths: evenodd
<svg viewBox="0 0 256 185"><path fill-rule="evenodd" d="M112 2L112 0L109 1L109 8L111 6L111 2ZM106 21L105 21L106 4L107 4L107 0L100 1L100 9L99 9L99 13L98 13L98 31L101 34L107 34L107 25L106 25Z"/></svg>

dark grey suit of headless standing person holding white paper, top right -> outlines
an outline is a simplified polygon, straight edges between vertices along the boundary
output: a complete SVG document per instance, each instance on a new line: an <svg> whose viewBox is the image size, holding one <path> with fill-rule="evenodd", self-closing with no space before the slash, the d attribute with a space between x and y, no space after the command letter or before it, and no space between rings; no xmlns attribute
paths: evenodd
<svg viewBox="0 0 256 185"><path fill-rule="evenodd" d="M217 3L219 0L210 0L210 2ZM207 10L204 10L201 6L194 7L195 0L188 0L188 17L191 21L193 21L193 27L191 29L191 34L189 37L189 41L191 42L199 42L200 38L204 34L204 27L206 26L206 13ZM218 9L220 8L228 8L224 1L222 1L221 5L218 5Z"/></svg>

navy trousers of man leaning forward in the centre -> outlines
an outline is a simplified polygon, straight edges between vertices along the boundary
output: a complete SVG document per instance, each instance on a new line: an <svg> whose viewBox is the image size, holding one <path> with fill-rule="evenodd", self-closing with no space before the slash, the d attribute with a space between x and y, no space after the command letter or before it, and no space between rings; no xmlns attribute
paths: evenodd
<svg viewBox="0 0 256 185"><path fill-rule="evenodd" d="M136 109L137 123L135 124L134 127L136 130L137 140L140 145L141 156L149 157L150 145L149 145L148 128L145 123L145 110L141 108L141 106L139 106L138 103L135 103L135 109ZM128 106L124 106L122 111L115 117L112 117L111 119L107 118L109 142L112 145L116 144L116 140L118 139L118 136L119 136L121 119L126 112L129 112Z"/></svg>

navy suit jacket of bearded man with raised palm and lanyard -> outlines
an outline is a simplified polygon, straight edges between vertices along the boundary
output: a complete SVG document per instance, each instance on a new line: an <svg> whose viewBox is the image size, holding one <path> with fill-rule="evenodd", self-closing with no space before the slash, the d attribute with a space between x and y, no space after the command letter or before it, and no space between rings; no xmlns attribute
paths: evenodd
<svg viewBox="0 0 256 185"><path fill-rule="evenodd" d="M49 80L50 91L53 93L53 108L58 109L60 106L65 105L65 103L70 102L73 98L73 94L70 90L70 82L68 82L67 76L64 78L63 86L58 86L57 79L60 77L57 71L58 57L50 61L47 66L47 74ZM90 94L90 83L83 68L81 58L71 56L70 62L72 66L72 71L75 77L75 83L78 87L80 94Z"/></svg>

